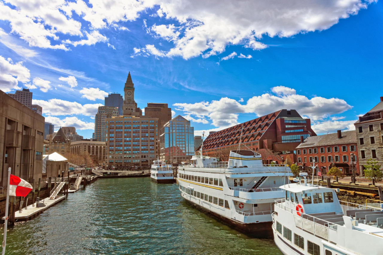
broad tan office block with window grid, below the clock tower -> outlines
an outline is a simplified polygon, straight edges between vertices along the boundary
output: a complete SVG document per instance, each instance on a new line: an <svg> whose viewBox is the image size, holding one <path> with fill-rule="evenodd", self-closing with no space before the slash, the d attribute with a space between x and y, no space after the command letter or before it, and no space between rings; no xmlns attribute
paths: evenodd
<svg viewBox="0 0 383 255"><path fill-rule="evenodd" d="M158 156L158 119L118 116L106 119L108 167L150 167Z"/></svg>

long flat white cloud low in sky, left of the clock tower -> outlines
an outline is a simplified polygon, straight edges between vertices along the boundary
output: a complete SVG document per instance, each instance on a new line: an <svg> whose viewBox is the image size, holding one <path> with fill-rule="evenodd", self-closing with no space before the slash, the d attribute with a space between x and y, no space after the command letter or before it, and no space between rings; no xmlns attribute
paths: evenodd
<svg viewBox="0 0 383 255"><path fill-rule="evenodd" d="M32 104L38 104L43 107L44 115L85 115L94 116L97 113L98 106L102 104L80 104L78 102L70 102L61 99L35 100Z"/></svg>

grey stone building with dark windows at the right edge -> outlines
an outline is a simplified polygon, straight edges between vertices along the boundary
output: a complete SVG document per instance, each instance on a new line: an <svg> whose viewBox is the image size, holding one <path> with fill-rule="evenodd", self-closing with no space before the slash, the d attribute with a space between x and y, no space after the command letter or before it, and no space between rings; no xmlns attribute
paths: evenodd
<svg viewBox="0 0 383 255"><path fill-rule="evenodd" d="M363 175L368 159L383 167L383 97L380 102L354 123L358 146L359 167Z"/></svg>

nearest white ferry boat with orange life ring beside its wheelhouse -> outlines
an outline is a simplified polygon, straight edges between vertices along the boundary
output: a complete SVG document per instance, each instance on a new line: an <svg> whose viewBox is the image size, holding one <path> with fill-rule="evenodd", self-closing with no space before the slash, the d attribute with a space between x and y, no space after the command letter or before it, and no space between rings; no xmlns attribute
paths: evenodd
<svg viewBox="0 0 383 255"><path fill-rule="evenodd" d="M307 173L304 173L307 175ZM273 234L285 255L381 255L383 212L339 201L336 190L304 183L281 186Z"/></svg>

